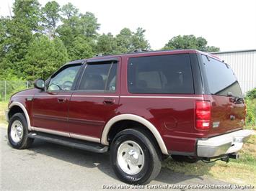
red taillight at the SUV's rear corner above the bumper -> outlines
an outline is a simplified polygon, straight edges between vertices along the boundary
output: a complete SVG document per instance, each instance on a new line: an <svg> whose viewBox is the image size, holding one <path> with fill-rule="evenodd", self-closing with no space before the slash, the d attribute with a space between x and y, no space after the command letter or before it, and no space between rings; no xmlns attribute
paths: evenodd
<svg viewBox="0 0 256 191"><path fill-rule="evenodd" d="M200 130L210 129L211 121L211 102L195 102L195 128Z"/></svg>

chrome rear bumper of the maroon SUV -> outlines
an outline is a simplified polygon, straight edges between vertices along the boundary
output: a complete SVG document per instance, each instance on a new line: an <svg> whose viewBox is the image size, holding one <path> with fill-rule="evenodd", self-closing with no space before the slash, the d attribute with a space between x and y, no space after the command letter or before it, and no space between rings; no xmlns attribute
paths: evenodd
<svg viewBox="0 0 256 191"><path fill-rule="evenodd" d="M218 157L224 154L237 153L252 134L250 130L239 130L229 134L198 140L198 157Z"/></svg>

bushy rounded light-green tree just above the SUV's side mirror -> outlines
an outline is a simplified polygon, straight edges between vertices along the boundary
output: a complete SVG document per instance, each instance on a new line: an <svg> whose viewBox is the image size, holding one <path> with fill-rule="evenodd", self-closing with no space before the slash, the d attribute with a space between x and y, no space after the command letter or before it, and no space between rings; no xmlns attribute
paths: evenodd
<svg viewBox="0 0 256 191"><path fill-rule="evenodd" d="M68 53L61 39L53 40L45 35L36 37L22 62L23 75L27 80L48 78L61 65L68 61Z"/></svg>

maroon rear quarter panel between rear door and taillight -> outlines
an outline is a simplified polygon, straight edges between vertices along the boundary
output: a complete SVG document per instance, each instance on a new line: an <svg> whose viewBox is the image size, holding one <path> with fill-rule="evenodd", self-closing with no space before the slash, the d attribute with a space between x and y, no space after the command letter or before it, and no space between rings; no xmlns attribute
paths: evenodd
<svg viewBox="0 0 256 191"><path fill-rule="evenodd" d="M195 129L194 124L195 101L202 100L203 95L129 93L127 83L128 59L128 56L124 56L122 59L118 113L131 113L150 121L161 134L168 152L194 154L197 138L206 136L205 132Z"/></svg>

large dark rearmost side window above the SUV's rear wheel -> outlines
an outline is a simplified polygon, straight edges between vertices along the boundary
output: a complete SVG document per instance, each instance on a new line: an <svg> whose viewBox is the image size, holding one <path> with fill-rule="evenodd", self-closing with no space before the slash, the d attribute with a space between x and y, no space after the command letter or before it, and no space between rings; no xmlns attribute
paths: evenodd
<svg viewBox="0 0 256 191"><path fill-rule="evenodd" d="M194 93L189 55L130 58L128 91L130 93Z"/></svg>

